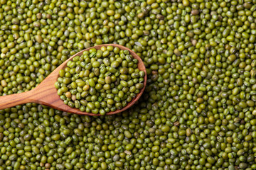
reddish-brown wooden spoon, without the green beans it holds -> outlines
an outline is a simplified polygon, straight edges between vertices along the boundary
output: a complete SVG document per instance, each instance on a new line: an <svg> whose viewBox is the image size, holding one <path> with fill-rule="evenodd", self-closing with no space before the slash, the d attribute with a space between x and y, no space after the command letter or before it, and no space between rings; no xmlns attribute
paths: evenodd
<svg viewBox="0 0 256 170"><path fill-rule="evenodd" d="M90 50L91 48L95 48L99 50L102 46L107 47L108 45L112 45L113 47L119 47L121 50L129 50L129 48L124 47L122 45L116 45L116 44L105 44L105 45L96 45L95 47L89 47L85 50ZM60 99L60 96L57 94L57 89L55 89L55 82L57 81L59 77L59 71L60 69L64 69L66 67L66 64L69 60L72 60L75 56L81 56L82 52L85 50L82 50L72 57L70 57L68 60L63 62L63 64L60 64L59 67L57 67L52 73L44 79L41 84L38 84L36 88L32 89L31 91L26 91L20 94L11 94L6 96L0 96L0 109L4 108L11 108L13 106L21 105L24 103L38 103L46 106L50 106L51 108L58 109L60 111L66 111L69 113L76 113L80 115L100 115L100 114L94 114L94 113L86 113L80 111L78 108L70 108L68 105L65 105L63 101ZM139 70L142 70L145 72L144 76L144 87L141 89L139 94L135 98L132 99L131 102L127 103L127 106L122 108L121 110L109 112L106 115L113 115L116 113L120 113L122 111L127 110L127 108L134 105L136 101L139 100L140 96L142 96L142 93L146 87L146 68L144 66L144 63L142 62L142 59L136 55L135 52L132 50L129 50L130 54L138 60L138 68Z"/></svg>

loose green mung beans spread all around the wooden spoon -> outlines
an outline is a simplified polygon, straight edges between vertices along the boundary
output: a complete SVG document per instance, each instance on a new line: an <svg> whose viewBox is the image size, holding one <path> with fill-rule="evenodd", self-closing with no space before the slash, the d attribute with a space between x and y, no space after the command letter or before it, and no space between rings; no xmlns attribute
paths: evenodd
<svg viewBox="0 0 256 170"><path fill-rule="evenodd" d="M255 0L0 0L1 96L104 43L148 75L117 115L1 110L0 170L256 169L255 21Z"/></svg>

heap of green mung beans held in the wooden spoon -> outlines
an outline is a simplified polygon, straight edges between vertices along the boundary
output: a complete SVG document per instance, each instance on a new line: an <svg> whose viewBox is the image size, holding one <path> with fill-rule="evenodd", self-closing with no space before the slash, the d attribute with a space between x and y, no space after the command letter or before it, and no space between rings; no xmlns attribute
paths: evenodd
<svg viewBox="0 0 256 170"><path fill-rule="evenodd" d="M129 50L91 48L60 69L55 88L60 99L82 112L105 115L121 110L144 87L145 72Z"/></svg>

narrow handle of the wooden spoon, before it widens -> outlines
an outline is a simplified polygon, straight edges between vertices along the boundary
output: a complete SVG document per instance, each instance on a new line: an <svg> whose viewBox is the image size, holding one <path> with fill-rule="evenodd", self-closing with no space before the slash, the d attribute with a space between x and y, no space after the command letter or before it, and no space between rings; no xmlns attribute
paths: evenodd
<svg viewBox="0 0 256 170"><path fill-rule="evenodd" d="M24 103L31 103L33 102L31 95L33 95L33 90L20 94L0 96L0 109L11 108Z"/></svg>

